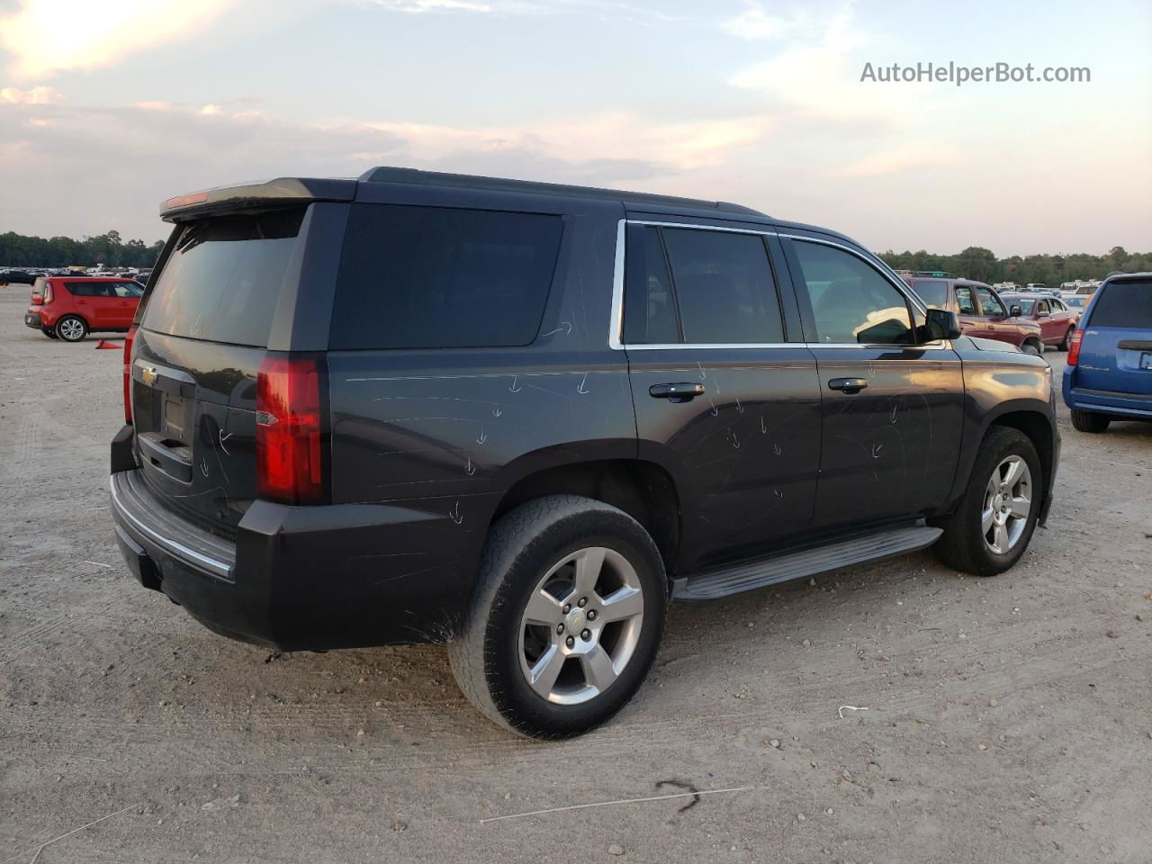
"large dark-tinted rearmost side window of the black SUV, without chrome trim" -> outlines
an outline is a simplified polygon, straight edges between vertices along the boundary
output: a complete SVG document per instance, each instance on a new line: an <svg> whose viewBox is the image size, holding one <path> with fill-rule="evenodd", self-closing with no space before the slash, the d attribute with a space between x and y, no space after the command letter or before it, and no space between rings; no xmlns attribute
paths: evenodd
<svg viewBox="0 0 1152 864"><path fill-rule="evenodd" d="M529 344L562 230L559 215L354 204L329 347Z"/></svg>

